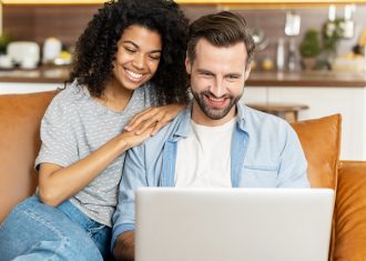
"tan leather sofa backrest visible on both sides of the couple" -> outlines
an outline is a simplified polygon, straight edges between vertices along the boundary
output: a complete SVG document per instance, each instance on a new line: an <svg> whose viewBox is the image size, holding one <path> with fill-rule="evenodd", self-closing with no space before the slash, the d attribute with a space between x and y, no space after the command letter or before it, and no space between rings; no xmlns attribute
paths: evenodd
<svg viewBox="0 0 366 261"><path fill-rule="evenodd" d="M54 94L0 96L0 223L14 204L34 192L40 122ZM308 161L312 187L336 188L340 116L295 122L293 128Z"/></svg>

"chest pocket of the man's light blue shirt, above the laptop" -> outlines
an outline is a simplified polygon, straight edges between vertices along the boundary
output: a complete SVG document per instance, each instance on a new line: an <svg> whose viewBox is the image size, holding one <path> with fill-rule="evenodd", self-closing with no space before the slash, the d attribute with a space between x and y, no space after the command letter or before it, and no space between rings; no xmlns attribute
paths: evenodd
<svg viewBox="0 0 366 261"><path fill-rule="evenodd" d="M242 175L244 188L275 188L277 185L277 167L244 165Z"/></svg>

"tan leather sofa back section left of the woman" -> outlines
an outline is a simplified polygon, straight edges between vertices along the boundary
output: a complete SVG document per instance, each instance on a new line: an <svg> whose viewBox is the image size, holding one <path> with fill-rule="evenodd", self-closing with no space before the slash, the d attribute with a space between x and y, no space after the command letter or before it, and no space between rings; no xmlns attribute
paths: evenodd
<svg viewBox="0 0 366 261"><path fill-rule="evenodd" d="M54 93L0 96L0 223L14 204L34 192L40 122Z"/></svg>

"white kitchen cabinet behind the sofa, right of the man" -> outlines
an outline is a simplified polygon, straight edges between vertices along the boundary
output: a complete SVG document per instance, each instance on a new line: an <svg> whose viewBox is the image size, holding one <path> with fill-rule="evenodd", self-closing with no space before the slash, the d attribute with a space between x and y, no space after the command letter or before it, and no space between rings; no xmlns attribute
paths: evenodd
<svg viewBox="0 0 366 261"><path fill-rule="evenodd" d="M298 113L299 120L340 113L343 119L340 159L366 160L366 87L245 87L242 100L244 103L307 104L309 109Z"/></svg>

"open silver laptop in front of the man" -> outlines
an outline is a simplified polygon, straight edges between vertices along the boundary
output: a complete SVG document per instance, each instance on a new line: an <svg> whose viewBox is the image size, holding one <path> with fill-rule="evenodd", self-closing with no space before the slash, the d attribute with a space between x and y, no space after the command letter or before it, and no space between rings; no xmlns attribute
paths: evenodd
<svg viewBox="0 0 366 261"><path fill-rule="evenodd" d="M136 261L326 261L331 189L136 191Z"/></svg>

